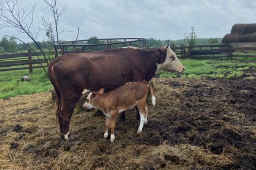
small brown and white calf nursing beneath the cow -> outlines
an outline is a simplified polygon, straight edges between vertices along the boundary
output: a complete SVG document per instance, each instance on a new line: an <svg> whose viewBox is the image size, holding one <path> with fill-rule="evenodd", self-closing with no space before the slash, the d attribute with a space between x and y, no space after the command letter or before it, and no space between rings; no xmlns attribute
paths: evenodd
<svg viewBox="0 0 256 170"><path fill-rule="evenodd" d="M146 99L148 91L151 91L152 104L155 106L155 93L152 83L149 81L129 82L117 89L104 93L104 89L88 94L87 100L84 103L85 109L97 108L105 115L105 132L104 138L108 136L110 128L110 140L114 142L114 128L116 126L117 115L124 110L132 109L137 106L140 113L140 125L137 133L142 132L144 123L147 123L148 104Z"/></svg>

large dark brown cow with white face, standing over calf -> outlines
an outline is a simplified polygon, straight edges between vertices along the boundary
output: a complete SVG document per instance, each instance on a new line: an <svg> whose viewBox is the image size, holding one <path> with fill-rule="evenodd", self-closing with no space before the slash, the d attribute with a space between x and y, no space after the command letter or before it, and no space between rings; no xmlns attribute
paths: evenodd
<svg viewBox="0 0 256 170"><path fill-rule="evenodd" d="M150 81L158 70L184 71L170 45L157 50L117 48L81 54L65 54L48 67L56 91L60 132L69 137L69 122L84 90L114 90L129 81Z"/></svg>

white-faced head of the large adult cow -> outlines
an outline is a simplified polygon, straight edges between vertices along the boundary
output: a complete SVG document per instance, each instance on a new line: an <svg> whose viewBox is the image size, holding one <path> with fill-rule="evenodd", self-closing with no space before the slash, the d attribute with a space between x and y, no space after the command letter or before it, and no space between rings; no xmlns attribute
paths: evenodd
<svg viewBox="0 0 256 170"><path fill-rule="evenodd" d="M171 50L171 45L165 45L165 47L158 48L158 54L159 55L165 55L165 60L163 63L158 64L158 68L156 71L159 70L166 70L169 72L172 71L178 71L183 72L185 70L185 67L183 64L181 64L180 60L178 60L178 57L174 53L174 51Z"/></svg>

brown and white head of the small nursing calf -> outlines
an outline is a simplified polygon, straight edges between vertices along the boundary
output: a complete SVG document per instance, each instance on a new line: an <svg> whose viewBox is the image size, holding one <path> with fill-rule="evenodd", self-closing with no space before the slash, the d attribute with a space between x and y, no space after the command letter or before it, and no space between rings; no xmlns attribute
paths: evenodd
<svg viewBox="0 0 256 170"><path fill-rule="evenodd" d="M101 88L98 91L93 91L88 94L87 100L85 100L85 103L83 104L84 109L94 109L98 106L98 96L100 94L104 93L104 89Z"/></svg>

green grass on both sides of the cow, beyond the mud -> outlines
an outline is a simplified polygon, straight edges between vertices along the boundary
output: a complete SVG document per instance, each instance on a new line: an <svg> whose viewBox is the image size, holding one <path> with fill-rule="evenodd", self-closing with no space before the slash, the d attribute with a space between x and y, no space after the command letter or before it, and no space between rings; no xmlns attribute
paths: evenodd
<svg viewBox="0 0 256 170"><path fill-rule="evenodd" d="M249 68L256 68L256 63L237 60L181 60L181 62L185 66L184 73L162 71L159 76L188 79L232 79L242 76L244 71ZM18 81L25 75L30 76L31 81ZM33 73L28 73L28 70L0 72L0 99L44 92L51 88L52 84L42 68L34 69Z"/></svg>

